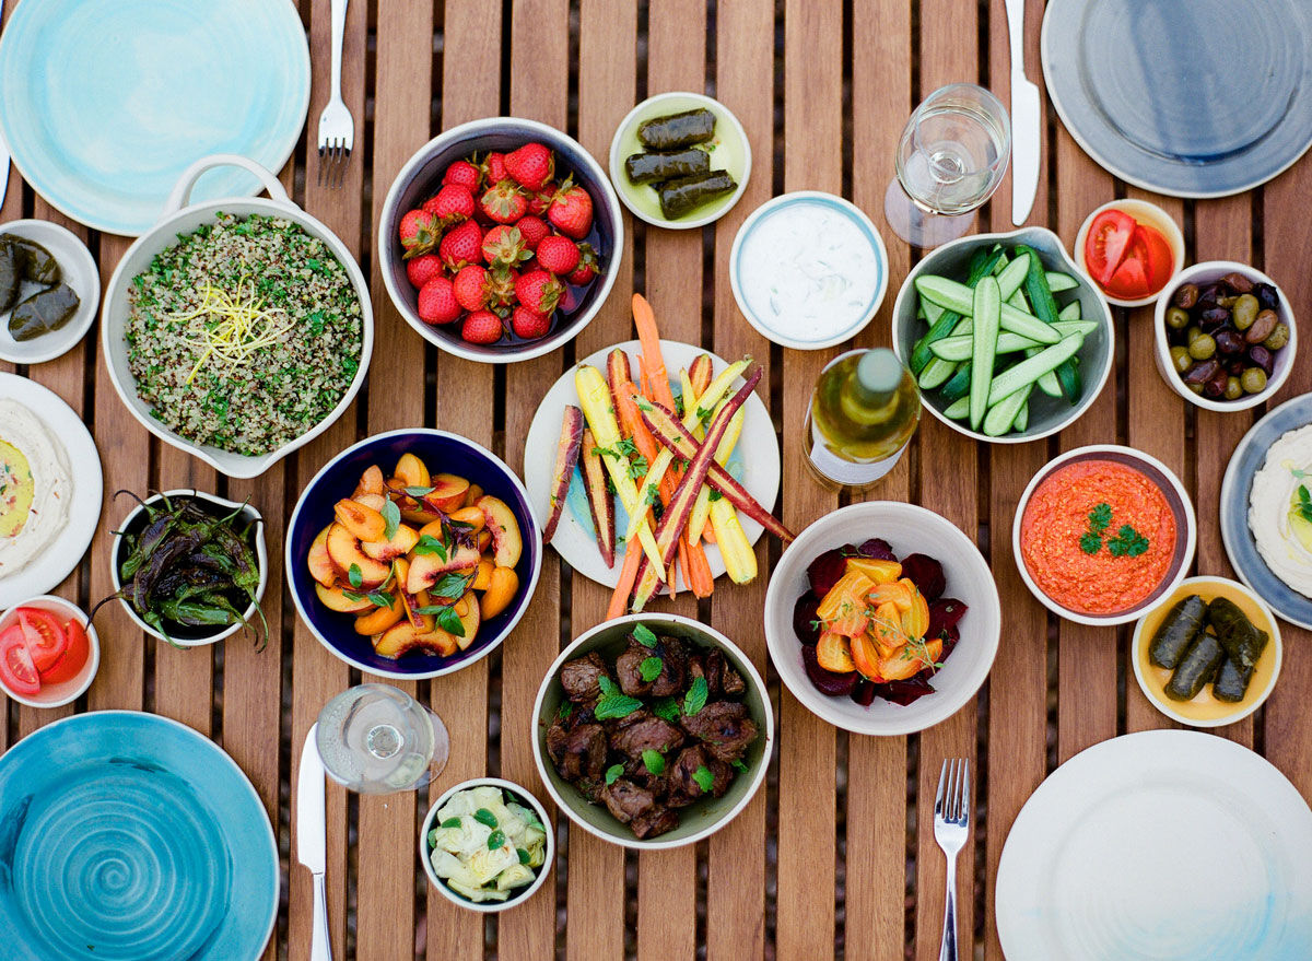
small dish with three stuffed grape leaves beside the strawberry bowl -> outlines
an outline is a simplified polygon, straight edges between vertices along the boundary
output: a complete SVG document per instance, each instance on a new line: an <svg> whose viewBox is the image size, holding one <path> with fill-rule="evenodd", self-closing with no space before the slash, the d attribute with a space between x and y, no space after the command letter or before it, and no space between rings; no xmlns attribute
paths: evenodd
<svg viewBox="0 0 1312 961"><path fill-rule="evenodd" d="M623 205L656 227L690 230L737 203L752 146L724 104L660 93L628 112L610 142L610 181Z"/></svg>

